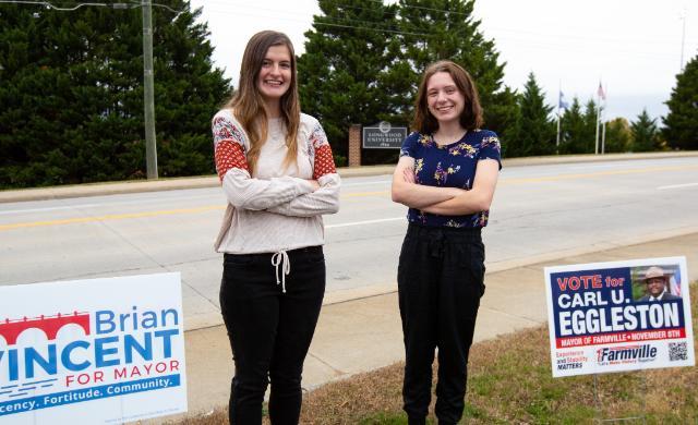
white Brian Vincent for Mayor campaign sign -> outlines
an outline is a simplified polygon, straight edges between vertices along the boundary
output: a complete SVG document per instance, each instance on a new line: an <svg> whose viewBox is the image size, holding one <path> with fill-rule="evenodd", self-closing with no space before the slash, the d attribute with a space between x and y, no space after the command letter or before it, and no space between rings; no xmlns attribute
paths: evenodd
<svg viewBox="0 0 698 425"><path fill-rule="evenodd" d="M179 274L0 287L0 424L186 411Z"/></svg>

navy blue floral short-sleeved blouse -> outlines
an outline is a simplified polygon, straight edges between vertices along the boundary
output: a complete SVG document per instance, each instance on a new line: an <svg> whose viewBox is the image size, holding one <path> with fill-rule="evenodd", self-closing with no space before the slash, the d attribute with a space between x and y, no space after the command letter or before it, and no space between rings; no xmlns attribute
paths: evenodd
<svg viewBox="0 0 698 425"><path fill-rule="evenodd" d="M458 187L469 191L481 159L501 161L500 138L489 130L469 131L458 142L438 146L431 134L412 132L400 150L400 157L414 159L414 180L418 184ZM490 211L467 216L440 216L410 208L407 219L430 227L482 228L488 226Z"/></svg>

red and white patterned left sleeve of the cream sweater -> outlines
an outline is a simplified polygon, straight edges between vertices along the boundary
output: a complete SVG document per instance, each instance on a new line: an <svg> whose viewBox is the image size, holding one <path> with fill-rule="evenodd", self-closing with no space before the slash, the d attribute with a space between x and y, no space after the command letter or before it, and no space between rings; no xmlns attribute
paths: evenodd
<svg viewBox="0 0 698 425"><path fill-rule="evenodd" d="M245 157L244 135L228 118L216 116L212 123L216 172L222 182L231 168L250 172Z"/></svg>

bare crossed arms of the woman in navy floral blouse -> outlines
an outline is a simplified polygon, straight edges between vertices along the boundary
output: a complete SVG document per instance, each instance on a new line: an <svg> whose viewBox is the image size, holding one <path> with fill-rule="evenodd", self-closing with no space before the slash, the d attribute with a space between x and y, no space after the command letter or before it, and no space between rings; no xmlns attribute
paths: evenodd
<svg viewBox="0 0 698 425"><path fill-rule="evenodd" d="M414 159L401 157L393 174L393 202L442 216L462 216L490 209L500 166L494 159L478 162L472 189L438 187L414 182Z"/></svg>

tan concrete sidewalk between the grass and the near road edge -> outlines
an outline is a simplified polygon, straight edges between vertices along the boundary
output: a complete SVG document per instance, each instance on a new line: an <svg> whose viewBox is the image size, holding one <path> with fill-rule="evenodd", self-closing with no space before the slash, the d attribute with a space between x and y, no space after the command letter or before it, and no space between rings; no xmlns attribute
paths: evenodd
<svg viewBox="0 0 698 425"><path fill-rule="evenodd" d="M546 323L545 266L664 256L686 256L689 279L698 279L698 233L490 272L474 341ZM396 288L386 294L323 306L305 360L304 388L404 360ZM233 369L225 328L188 331L185 341L190 415L226 405Z"/></svg>

